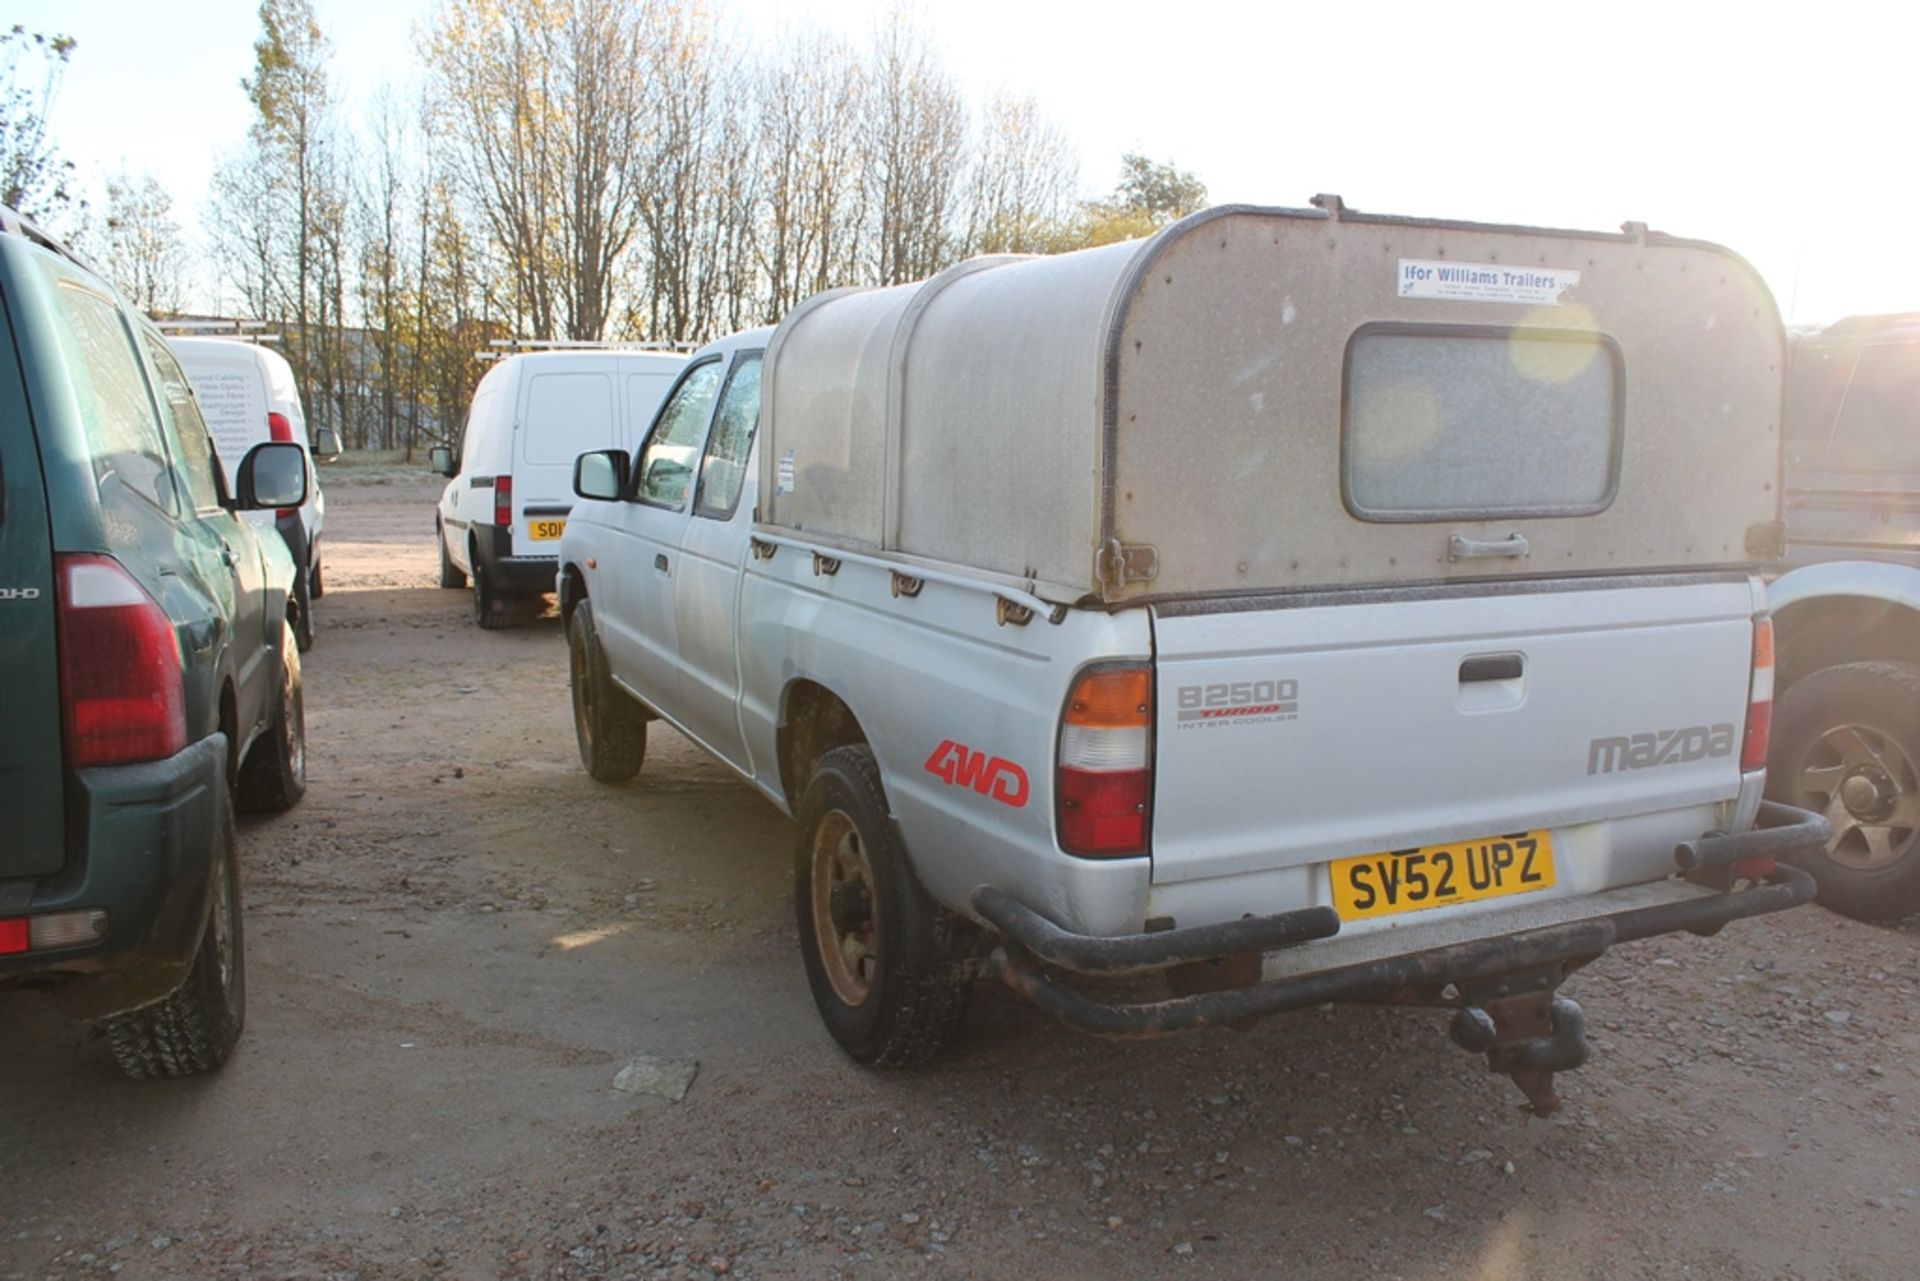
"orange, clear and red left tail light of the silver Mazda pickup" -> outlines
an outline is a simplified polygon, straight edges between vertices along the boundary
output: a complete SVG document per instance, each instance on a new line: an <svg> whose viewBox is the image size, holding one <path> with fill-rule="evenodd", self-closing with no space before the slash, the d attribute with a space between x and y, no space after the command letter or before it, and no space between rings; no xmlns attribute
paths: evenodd
<svg viewBox="0 0 1920 1281"><path fill-rule="evenodd" d="M1081 672L1060 718L1060 849L1091 858L1146 853L1152 737L1154 682L1144 665Z"/></svg>

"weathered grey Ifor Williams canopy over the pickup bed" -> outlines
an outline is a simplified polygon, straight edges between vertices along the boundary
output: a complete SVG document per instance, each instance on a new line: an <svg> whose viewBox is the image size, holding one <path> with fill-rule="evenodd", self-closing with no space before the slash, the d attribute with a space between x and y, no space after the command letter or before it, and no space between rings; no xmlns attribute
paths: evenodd
<svg viewBox="0 0 1920 1281"><path fill-rule="evenodd" d="M1741 259L1317 205L801 303L760 524L1064 603L1776 555L1786 338Z"/></svg>

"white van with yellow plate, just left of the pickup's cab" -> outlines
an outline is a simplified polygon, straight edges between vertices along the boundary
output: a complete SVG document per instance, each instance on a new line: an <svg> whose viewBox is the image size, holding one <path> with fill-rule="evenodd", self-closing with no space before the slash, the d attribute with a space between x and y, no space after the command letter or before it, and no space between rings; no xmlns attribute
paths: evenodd
<svg viewBox="0 0 1920 1281"><path fill-rule="evenodd" d="M553 592L574 459L632 449L685 367L666 351L522 351L480 378L455 449L434 446L440 586L472 578L474 622L507 626L513 605Z"/></svg>

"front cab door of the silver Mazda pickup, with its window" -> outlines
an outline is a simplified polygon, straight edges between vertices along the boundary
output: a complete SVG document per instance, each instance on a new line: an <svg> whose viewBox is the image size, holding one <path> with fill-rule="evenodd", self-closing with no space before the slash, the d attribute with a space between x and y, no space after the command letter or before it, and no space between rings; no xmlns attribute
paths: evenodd
<svg viewBox="0 0 1920 1281"><path fill-rule="evenodd" d="M691 365L653 419L634 463L628 501L609 515L603 584L607 609L593 618L614 676L655 711L680 718L674 572L691 519L693 476L701 442L720 396L726 363Z"/></svg>

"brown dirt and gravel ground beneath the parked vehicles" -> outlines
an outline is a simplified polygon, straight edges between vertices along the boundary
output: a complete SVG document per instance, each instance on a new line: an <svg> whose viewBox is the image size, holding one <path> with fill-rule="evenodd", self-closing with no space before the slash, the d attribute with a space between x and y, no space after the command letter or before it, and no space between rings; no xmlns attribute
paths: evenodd
<svg viewBox="0 0 1920 1281"><path fill-rule="evenodd" d="M948 1062L854 1068L789 822L662 730L593 784L557 618L432 586L436 492L328 478L225 1072L123 1081L0 993L0 1277L1920 1275L1912 924L1620 949L1549 1122L1386 1008L1106 1045L983 987ZM641 1052L685 1099L612 1089Z"/></svg>

